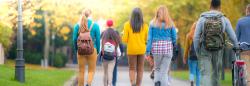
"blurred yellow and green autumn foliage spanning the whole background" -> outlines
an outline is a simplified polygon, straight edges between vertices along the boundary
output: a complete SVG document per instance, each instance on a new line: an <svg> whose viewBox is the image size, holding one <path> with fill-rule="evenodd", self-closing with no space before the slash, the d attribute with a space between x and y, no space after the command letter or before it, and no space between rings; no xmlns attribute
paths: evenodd
<svg viewBox="0 0 250 86"><path fill-rule="evenodd" d="M238 19L245 15L245 6L250 0L222 0L222 11L230 19L235 27ZM74 24L79 20L84 8L90 8L93 20L113 19L114 26L119 32L123 30L123 24L129 20L131 11L134 7L142 9L145 23L149 23L155 16L156 9L160 5L166 5L169 9L175 26L178 28L178 37L181 45L184 45L186 34L192 24L197 21L202 12L209 10L210 0L26 0L24 1L24 49L43 53L44 47L44 28L47 24L50 29L50 38L55 34L55 40L50 39L50 44L54 42L55 48L72 45L72 30ZM0 17L4 24L0 24L0 43L4 41L4 46L16 43L16 1L11 3L0 3ZM10 10L9 10L10 9ZM47 12L47 17L44 16ZM1 29L9 26L11 29ZM66 29L65 29L66 28ZM12 30L12 31L2 31ZM12 36L1 36L2 33ZM4 39L2 39L4 38ZM12 40L12 41L9 41ZM8 42L9 41L9 42ZM16 44L13 44L9 56L15 58Z"/></svg>

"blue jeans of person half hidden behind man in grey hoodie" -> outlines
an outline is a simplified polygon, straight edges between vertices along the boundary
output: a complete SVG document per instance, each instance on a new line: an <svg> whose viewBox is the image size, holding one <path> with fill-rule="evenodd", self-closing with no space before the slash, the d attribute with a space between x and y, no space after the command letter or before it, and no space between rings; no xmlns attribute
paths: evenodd
<svg viewBox="0 0 250 86"><path fill-rule="evenodd" d="M188 66L189 66L189 80L194 81L196 76L196 86L200 86L200 71L198 67L197 60L190 60L188 59Z"/></svg>

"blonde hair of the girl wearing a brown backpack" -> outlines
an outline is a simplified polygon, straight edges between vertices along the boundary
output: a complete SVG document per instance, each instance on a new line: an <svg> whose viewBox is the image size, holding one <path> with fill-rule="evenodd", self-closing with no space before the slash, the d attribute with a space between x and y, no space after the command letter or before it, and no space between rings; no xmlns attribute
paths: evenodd
<svg viewBox="0 0 250 86"><path fill-rule="evenodd" d="M79 21L79 32L87 32L88 30L88 20L86 16L82 15Z"/></svg>

